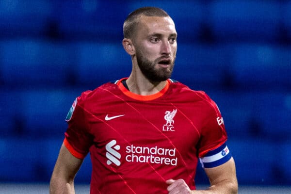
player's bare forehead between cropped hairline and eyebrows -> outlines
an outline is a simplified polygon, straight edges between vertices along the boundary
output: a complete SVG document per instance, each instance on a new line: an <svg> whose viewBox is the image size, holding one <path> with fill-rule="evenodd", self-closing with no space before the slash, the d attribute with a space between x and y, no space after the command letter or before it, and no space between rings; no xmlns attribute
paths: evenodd
<svg viewBox="0 0 291 194"><path fill-rule="evenodd" d="M177 33L175 23L171 17L141 16L138 33Z"/></svg>

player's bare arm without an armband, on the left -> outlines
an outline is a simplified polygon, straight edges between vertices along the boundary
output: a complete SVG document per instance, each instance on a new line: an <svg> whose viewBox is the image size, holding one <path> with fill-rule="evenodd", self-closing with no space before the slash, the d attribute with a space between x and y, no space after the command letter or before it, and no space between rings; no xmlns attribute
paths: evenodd
<svg viewBox="0 0 291 194"><path fill-rule="evenodd" d="M75 194L74 178L82 162L63 144L50 179L49 194Z"/></svg>

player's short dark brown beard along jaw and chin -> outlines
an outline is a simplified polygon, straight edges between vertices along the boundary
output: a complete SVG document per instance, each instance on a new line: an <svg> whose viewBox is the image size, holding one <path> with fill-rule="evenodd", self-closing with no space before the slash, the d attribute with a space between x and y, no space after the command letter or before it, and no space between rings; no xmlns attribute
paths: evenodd
<svg viewBox="0 0 291 194"><path fill-rule="evenodd" d="M149 61L140 51L136 52L136 60L139 68L141 69L144 76L153 82L166 81L172 75L174 69L175 58L171 61L170 68L155 68L155 66L161 61L162 58L158 58L155 61Z"/></svg>

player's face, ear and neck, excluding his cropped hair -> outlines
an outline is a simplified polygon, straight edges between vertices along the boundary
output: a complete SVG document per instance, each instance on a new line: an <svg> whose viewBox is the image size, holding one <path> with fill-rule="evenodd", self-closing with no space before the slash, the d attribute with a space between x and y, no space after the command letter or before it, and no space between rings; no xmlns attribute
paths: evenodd
<svg viewBox="0 0 291 194"><path fill-rule="evenodd" d="M127 80L129 90L139 95L159 92L172 74L177 52L177 32L170 17L141 16L138 31L131 39L123 39L123 47L131 56L132 72ZM163 79L154 79L141 70L141 60L147 61ZM159 64L169 61L169 65ZM151 73L153 74L153 73Z"/></svg>

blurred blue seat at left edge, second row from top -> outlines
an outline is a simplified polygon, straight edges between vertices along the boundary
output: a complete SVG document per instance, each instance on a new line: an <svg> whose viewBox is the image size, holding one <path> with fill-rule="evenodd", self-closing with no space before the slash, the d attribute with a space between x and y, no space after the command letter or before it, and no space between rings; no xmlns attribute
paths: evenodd
<svg viewBox="0 0 291 194"><path fill-rule="evenodd" d="M0 42L0 73L5 84L13 87L65 85L74 64L66 45L30 39Z"/></svg>

